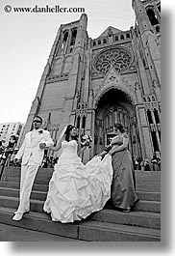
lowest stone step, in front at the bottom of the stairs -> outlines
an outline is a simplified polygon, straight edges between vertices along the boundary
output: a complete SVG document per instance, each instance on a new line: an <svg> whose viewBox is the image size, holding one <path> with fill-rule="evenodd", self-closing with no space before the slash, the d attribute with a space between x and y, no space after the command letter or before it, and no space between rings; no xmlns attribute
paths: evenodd
<svg viewBox="0 0 175 256"><path fill-rule="evenodd" d="M28 213L19 222L13 221L13 209L0 207L2 223L38 230L77 240L92 242L161 242L158 229L135 227L96 220L62 224L52 222L45 213Z"/></svg>

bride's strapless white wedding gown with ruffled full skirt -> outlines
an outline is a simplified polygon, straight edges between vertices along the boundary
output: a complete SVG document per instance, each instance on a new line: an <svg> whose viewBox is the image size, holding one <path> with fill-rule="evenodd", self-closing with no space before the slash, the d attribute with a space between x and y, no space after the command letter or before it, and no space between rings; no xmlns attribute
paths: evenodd
<svg viewBox="0 0 175 256"><path fill-rule="evenodd" d="M63 140L43 211L53 221L81 220L105 206L111 197L112 156L94 156L85 165L77 155L77 142Z"/></svg>

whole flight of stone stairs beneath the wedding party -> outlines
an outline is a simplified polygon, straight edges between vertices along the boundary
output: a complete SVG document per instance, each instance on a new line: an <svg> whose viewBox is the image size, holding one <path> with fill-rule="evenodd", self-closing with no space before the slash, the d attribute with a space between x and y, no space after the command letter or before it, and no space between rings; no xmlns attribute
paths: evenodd
<svg viewBox="0 0 175 256"><path fill-rule="evenodd" d="M131 213L112 209L110 202L81 222L51 221L43 213L52 169L38 170L31 194L31 212L13 221L18 206L20 168L7 167L0 181L0 222L29 230L92 242L161 242L161 172L136 171L139 202Z"/></svg>

